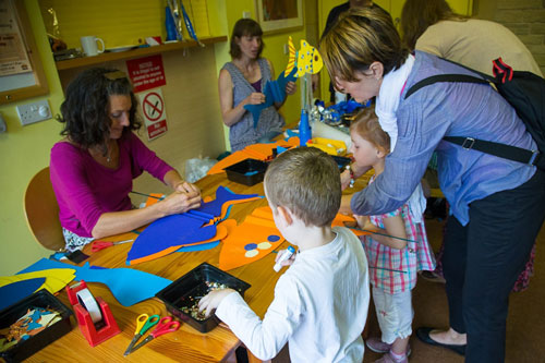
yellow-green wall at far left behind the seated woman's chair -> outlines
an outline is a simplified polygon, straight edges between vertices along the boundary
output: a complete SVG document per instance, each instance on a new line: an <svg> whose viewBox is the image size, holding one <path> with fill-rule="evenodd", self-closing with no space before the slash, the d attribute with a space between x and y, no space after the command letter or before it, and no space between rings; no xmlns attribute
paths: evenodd
<svg viewBox="0 0 545 363"><path fill-rule="evenodd" d="M59 140L60 126L55 120L46 120L22 126L15 110L38 99L47 99L52 113L59 112L63 99L49 43L44 29L37 0L25 0L28 17L49 84L49 95L27 99L19 104L0 106L8 124L8 132L0 134L0 276L10 275L49 253L38 245L26 227L23 195L26 183L36 171L49 165L49 150Z"/></svg>

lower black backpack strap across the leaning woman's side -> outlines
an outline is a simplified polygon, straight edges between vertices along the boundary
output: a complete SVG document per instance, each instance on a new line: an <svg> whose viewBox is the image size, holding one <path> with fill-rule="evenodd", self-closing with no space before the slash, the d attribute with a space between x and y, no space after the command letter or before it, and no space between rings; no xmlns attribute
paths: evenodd
<svg viewBox="0 0 545 363"><path fill-rule="evenodd" d="M528 165L537 165L542 155L538 150L529 150L522 147L463 136L445 136L443 140L462 146L464 149L479 150L498 156L504 159L519 161Z"/></svg>

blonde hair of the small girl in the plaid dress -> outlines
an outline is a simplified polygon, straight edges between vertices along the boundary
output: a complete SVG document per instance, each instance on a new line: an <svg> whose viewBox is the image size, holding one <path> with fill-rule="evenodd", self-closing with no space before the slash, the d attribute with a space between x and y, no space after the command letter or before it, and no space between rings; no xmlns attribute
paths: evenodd
<svg viewBox="0 0 545 363"><path fill-rule="evenodd" d="M385 154L390 153L390 136L380 128L375 107L372 106L361 110L350 125L350 132L355 132Z"/></svg>

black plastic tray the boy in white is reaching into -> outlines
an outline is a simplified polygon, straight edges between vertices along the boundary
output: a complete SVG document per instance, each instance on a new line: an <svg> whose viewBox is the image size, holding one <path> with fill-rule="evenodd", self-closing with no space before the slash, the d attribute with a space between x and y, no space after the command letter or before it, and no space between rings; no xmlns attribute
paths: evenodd
<svg viewBox="0 0 545 363"><path fill-rule="evenodd" d="M172 315L187 323L201 332L208 332L219 323L216 315L213 314L208 318L199 320L182 311L183 307L193 306L195 301L208 293L209 287L206 283L207 281L223 283L239 291L242 297L244 297L244 291L250 288L250 283L210 264L203 263L157 292L156 298L159 298L165 303L167 310Z"/></svg>

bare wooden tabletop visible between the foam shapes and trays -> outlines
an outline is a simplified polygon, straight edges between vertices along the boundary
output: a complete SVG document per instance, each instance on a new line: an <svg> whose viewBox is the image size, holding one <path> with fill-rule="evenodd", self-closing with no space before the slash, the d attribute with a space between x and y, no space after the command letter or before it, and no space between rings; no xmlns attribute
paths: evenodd
<svg viewBox="0 0 545 363"><path fill-rule="evenodd" d="M213 198L215 198L216 189L219 185L227 186L234 193L264 195L263 183L245 186L227 180L226 173L207 176L196 184L201 187L203 196L210 195ZM265 198L233 205L230 218L237 219L240 223L253 209L264 205L267 205ZM122 238L119 237L117 240ZM283 242L281 249L286 246L287 242ZM128 267L125 259L130 249L130 243L125 243L95 254L90 253L90 246L86 246L84 252L90 255L87 261L92 266L119 268ZM219 266L220 250L221 245L208 251L172 253L158 259L134 265L132 268L175 280L203 262ZM252 285L246 290L244 299L262 317L272 301L274 287L281 275L281 273L276 274L272 270L275 256L276 254L270 253L257 262L228 271ZM166 316L165 304L154 298L125 307L118 303L105 285L89 282L88 288L93 295L100 297L108 303L121 332L92 348L80 331L75 319L72 319L71 332L32 355L27 362L222 362L231 356L241 344L240 340L227 327L218 326L207 334L202 334L182 323L177 332L154 339L142 349L124 358L123 352L134 335L136 317L142 313ZM71 306L64 291L61 291L59 299L66 306Z"/></svg>

